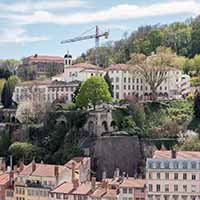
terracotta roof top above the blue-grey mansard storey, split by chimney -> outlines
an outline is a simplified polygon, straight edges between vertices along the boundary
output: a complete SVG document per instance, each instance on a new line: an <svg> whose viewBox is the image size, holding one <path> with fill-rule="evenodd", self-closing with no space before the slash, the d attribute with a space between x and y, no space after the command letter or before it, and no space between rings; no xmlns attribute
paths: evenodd
<svg viewBox="0 0 200 200"><path fill-rule="evenodd" d="M153 158L154 159L171 159L171 151L155 151ZM177 151L176 158L180 160L200 159L200 152L199 151Z"/></svg>

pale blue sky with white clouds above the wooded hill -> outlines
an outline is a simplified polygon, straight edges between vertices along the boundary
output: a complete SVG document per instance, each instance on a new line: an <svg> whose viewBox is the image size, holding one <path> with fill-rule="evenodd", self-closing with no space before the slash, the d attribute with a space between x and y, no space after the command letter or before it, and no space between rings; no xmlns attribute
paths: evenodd
<svg viewBox="0 0 200 200"><path fill-rule="evenodd" d="M109 31L108 41L121 39L140 26L185 21L200 14L200 0L0 0L0 59L29 55L75 58L95 40L60 44L62 40ZM91 30L92 29L92 30Z"/></svg>

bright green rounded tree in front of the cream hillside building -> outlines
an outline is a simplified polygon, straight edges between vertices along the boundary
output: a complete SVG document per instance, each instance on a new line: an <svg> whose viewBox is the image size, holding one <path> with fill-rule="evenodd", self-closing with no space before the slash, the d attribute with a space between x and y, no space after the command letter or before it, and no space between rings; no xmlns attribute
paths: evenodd
<svg viewBox="0 0 200 200"><path fill-rule="evenodd" d="M78 107L93 105L94 110L96 105L110 101L112 101L112 97L109 93L108 85L104 78L100 76L93 76L83 82L76 97Z"/></svg>

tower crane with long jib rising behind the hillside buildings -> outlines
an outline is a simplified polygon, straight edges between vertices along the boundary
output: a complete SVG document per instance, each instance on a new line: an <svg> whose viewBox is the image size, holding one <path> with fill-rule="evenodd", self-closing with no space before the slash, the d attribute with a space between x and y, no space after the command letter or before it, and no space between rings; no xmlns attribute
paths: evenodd
<svg viewBox="0 0 200 200"><path fill-rule="evenodd" d="M95 51L96 51L95 52L95 63L96 63L96 65L99 65L99 39L100 39L100 37L105 37L107 39L108 36L109 36L108 32L104 32L102 34L99 34L99 27L96 26L96 33L95 34L86 35L86 36L82 36L82 37L75 37L75 38L68 39L68 40L63 40L63 41L61 41L61 44L78 42L78 41L82 41L82 40L88 40L88 39L95 38Z"/></svg>

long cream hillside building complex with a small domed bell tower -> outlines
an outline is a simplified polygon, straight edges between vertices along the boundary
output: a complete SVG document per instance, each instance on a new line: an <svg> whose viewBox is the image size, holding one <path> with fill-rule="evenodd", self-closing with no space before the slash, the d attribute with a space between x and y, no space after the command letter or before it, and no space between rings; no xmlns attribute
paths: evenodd
<svg viewBox="0 0 200 200"><path fill-rule="evenodd" d="M39 59L40 56L37 56ZM126 64L113 64L108 68L101 68L89 63L72 64L72 56L64 56L64 72L52 77L52 80L28 81L19 83L14 92L14 100L17 103L31 99L31 94L39 91L45 102L52 103L55 99L63 98L65 101L72 101L74 90L80 82L91 76L104 76L108 73L111 78L114 101L137 97L141 101L150 100L152 92L150 86L145 82L144 77L138 73L130 73ZM190 92L190 77L183 75L179 69L168 68L166 79L157 89L157 96L160 99L177 99ZM39 96L34 95L35 97Z"/></svg>

